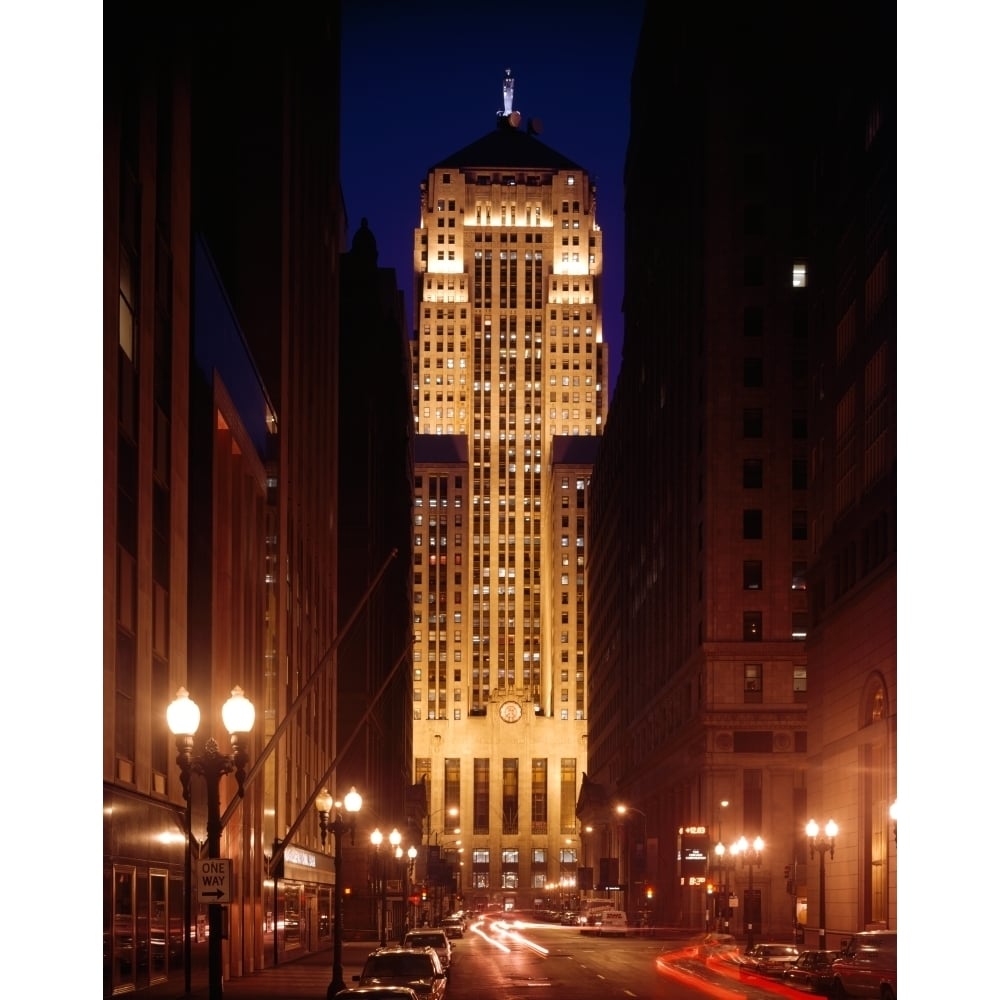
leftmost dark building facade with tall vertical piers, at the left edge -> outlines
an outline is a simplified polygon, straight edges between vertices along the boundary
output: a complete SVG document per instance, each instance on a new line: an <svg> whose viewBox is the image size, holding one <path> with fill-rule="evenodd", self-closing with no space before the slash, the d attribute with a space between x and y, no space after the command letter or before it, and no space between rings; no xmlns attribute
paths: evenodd
<svg viewBox="0 0 1000 1000"><path fill-rule="evenodd" d="M189 189L155 181L190 157L190 97L145 41L105 73L105 996L176 982L184 962L187 832L163 713L187 664L194 260Z"/></svg>

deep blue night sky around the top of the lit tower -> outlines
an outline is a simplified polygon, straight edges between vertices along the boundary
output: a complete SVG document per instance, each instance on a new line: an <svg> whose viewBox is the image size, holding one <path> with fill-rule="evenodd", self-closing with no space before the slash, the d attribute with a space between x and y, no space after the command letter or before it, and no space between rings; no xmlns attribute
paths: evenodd
<svg viewBox="0 0 1000 1000"><path fill-rule="evenodd" d="M577 4L343 0L341 173L349 235L363 218L413 325L413 230L432 164L496 127L503 77L545 145L597 184L610 387L621 361L625 151L642 0ZM388 192L388 194L387 194Z"/></svg>

